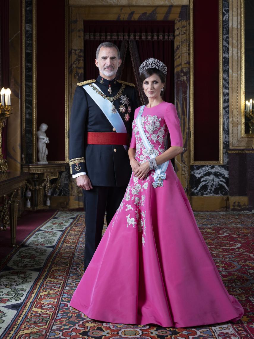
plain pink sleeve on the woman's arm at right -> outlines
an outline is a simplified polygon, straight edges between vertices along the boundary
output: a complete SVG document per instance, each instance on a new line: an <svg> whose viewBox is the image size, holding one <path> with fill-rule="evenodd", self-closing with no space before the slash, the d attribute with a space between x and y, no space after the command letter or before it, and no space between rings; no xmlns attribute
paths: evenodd
<svg viewBox="0 0 254 339"><path fill-rule="evenodd" d="M168 105L164 119L168 126L171 146L183 147L183 136L180 121L177 116L176 108L173 104Z"/></svg>

